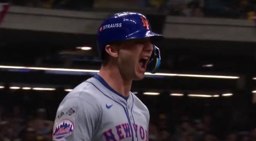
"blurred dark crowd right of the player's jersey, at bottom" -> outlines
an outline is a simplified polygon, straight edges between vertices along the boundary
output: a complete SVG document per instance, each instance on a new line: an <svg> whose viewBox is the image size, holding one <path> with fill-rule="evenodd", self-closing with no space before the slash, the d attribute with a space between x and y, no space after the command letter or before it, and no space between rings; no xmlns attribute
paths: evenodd
<svg viewBox="0 0 256 141"><path fill-rule="evenodd" d="M151 124L149 126L150 141L256 140L256 128L247 131L227 130L228 126L223 121L218 121L211 115L204 115L202 119L198 120L191 120L189 116L179 118L180 121L173 122L171 126L163 126L163 123Z"/></svg>

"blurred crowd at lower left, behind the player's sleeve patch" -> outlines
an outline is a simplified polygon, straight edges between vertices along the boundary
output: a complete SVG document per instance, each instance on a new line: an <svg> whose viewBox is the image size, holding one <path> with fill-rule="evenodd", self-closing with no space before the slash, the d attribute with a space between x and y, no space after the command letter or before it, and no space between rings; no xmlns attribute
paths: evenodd
<svg viewBox="0 0 256 141"><path fill-rule="evenodd" d="M8 116L3 107L0 113L1 141L52 141L54 122L46 118L46 109L38 109L34 117L21 113L19 106L14 106Z"/></svg>

